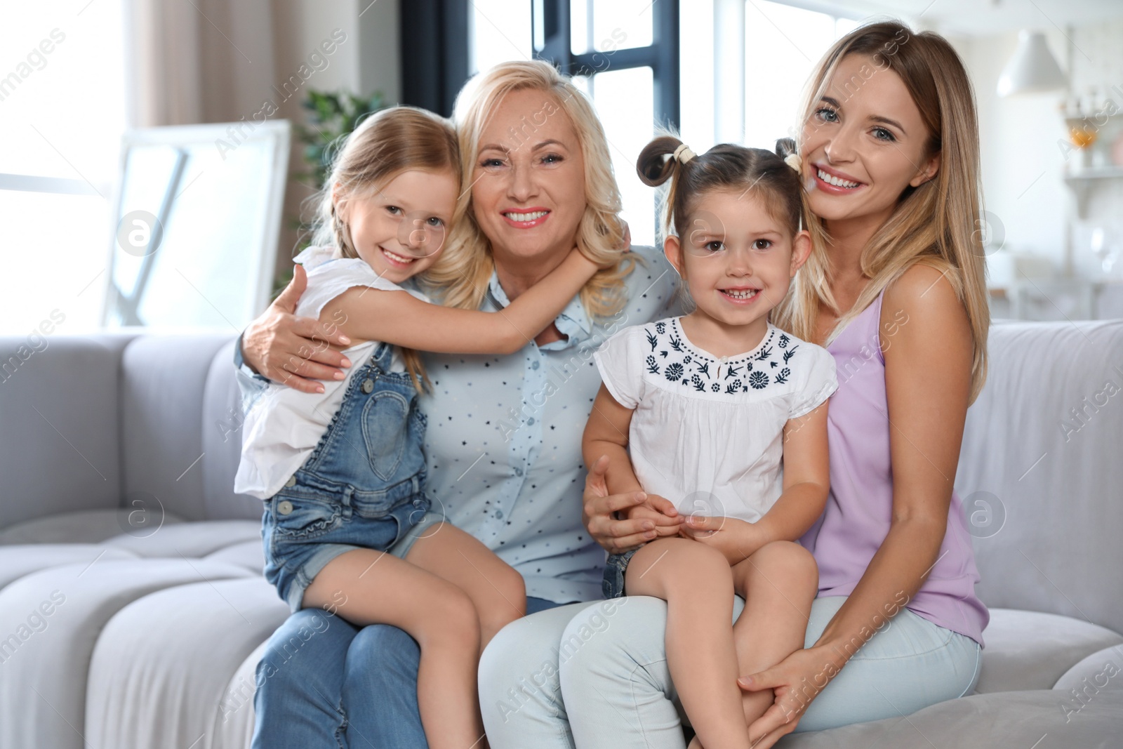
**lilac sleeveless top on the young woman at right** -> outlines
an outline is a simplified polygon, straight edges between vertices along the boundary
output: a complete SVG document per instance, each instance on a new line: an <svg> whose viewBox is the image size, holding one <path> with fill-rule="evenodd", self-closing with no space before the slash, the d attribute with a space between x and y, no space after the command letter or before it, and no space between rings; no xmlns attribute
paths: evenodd
<svg viewBox="0 0 1123 749"><path fill-rule="evenodd" d="M839 381L828 409L831 491L822 517L801 539L819 563L820 597L850 595L889 530L893 469L879 346L884 295L883 290L827 347ZM886 332L901 322L886 321ZM952 492L937 563L907 608L982 645L989 614L975 595L978 579L971 537Z"/></svg>

